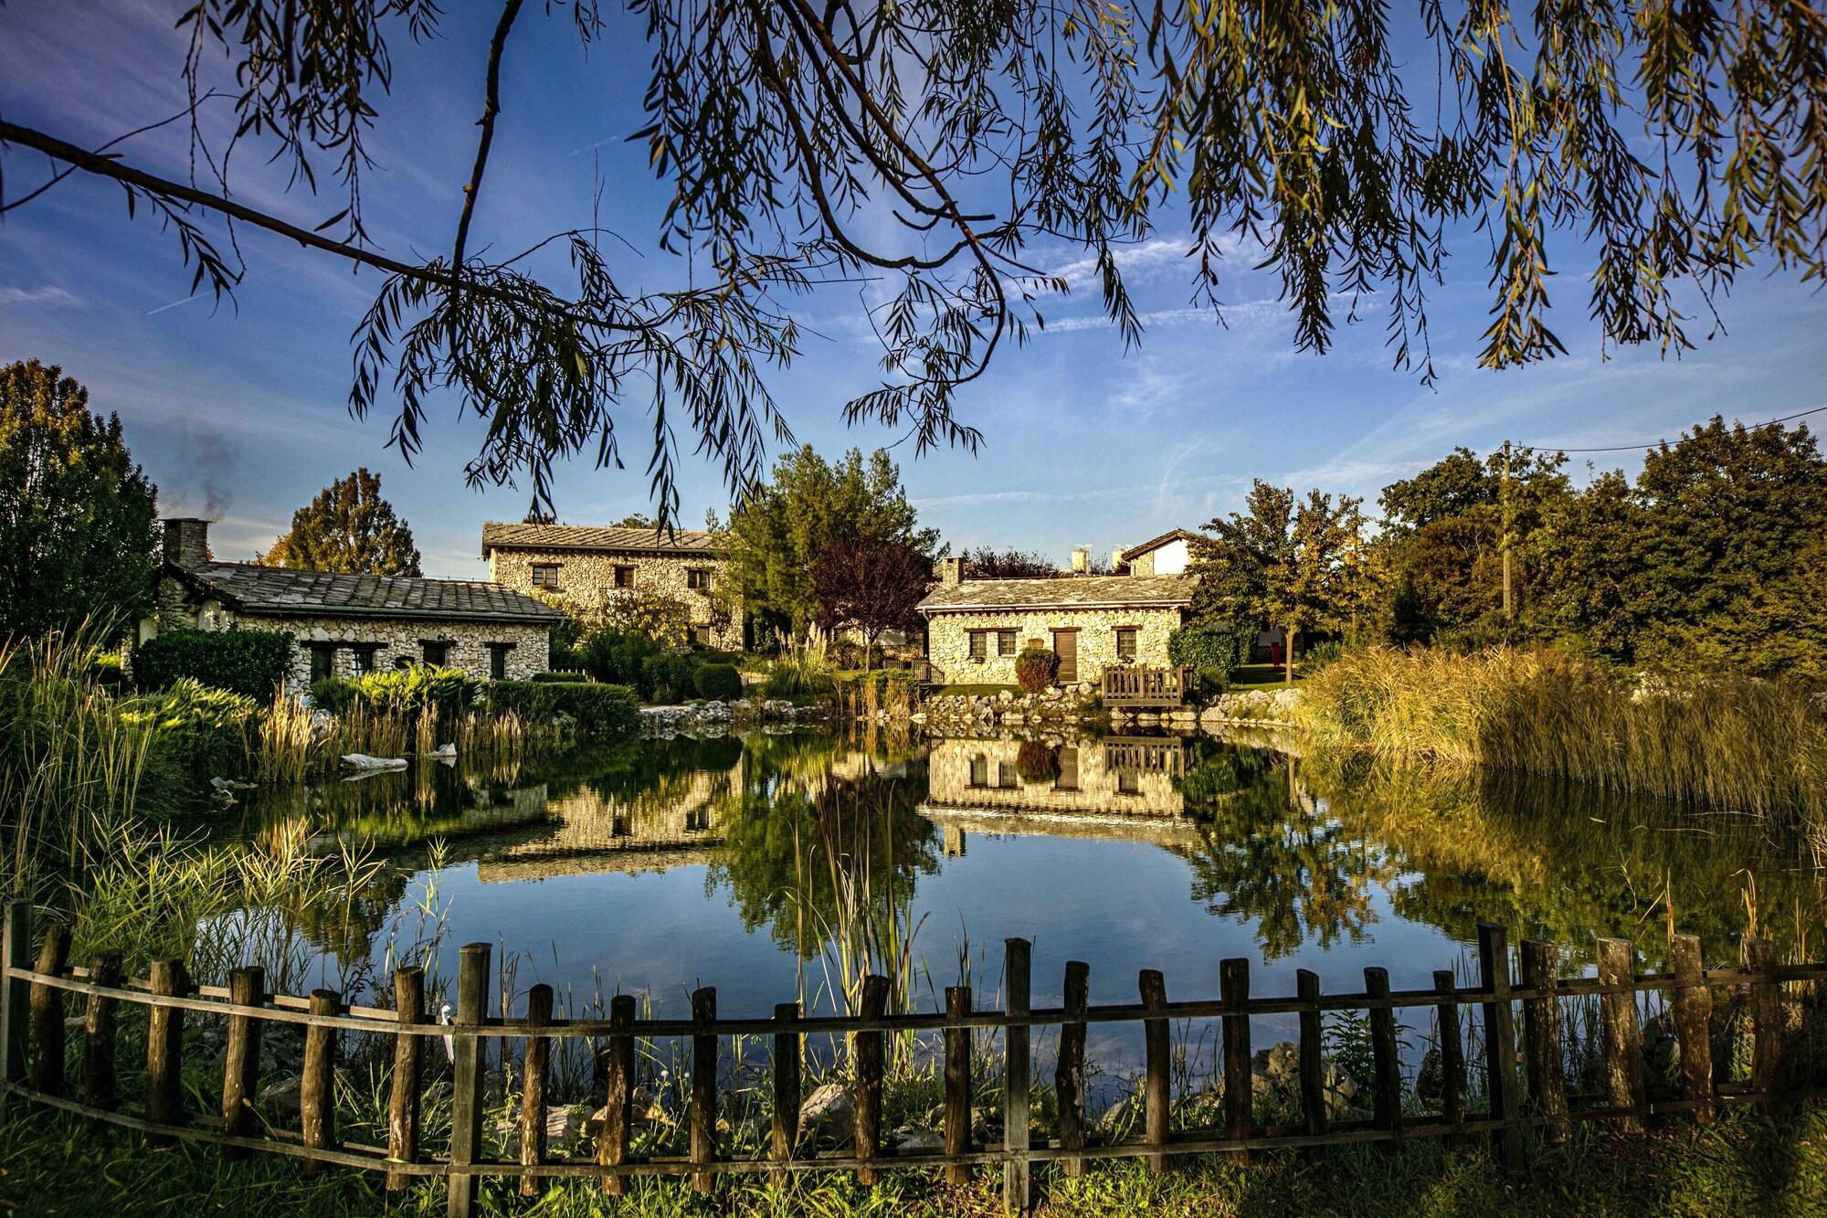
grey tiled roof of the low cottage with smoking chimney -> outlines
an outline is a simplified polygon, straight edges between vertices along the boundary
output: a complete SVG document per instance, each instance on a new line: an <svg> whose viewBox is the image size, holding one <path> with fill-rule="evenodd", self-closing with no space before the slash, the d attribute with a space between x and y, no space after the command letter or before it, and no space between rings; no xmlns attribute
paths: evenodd
<svg viewBox="0 0 1827 1218"><path fill-rule="evenodd" d="M254 563L177 569L243 613L274 616L442 618L557 624L563 613L524 593L484 580L331 574Z"/></svg>

